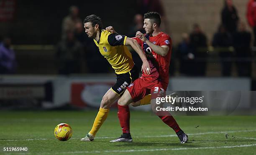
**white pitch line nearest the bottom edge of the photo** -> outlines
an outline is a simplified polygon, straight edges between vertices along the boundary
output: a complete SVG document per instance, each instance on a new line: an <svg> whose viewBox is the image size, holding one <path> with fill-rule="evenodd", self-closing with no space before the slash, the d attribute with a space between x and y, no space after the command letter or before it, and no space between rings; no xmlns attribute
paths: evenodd
<svg viewBox="0 0 256 155"><path fill-rule="evenodd" d="M235 145L235 146L219 146L219 147L200 147L200 148L167 148L167 149L142 149L142 150L105 150L105 151L77 151L77 152L65 152L65 153L122 153L122 152L143 152L143 151L169 151L169 150L198 150L198 149L219 149L219 148L239 148L256 146L256 144L248 145ZM64 154L64 153L56 153Z"/></svg>

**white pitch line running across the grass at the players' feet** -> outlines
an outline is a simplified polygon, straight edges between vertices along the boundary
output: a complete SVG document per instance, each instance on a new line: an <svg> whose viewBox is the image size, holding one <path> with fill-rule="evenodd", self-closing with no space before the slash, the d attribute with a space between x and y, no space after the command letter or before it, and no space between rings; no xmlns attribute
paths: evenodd
<svg viewBox="0 0 256 155"><path fill-rule="evenodd" d="M191 133L187 135L207 135L207 134L218 134L218 133L242 133L242 132L251 132L255 130L237 130L237 131L219 131L219 132L207 132L207 133ZM156 137L176 137L177 135L153 135L153 136L135 136L133 138L156 138ZM96 137L95 139L107 139L107 138L116 138L116 137ZM71 138L76 139L76 138ZM22 140L49 140L45 138L41 139L0 139L0 141L22 141Z"/></svg>

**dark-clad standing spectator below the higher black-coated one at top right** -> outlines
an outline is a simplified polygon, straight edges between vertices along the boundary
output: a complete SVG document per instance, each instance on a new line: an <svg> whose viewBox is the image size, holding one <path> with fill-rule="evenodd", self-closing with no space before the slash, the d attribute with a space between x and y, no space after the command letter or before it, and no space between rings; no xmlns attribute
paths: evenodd
<svg viewBox="0 0 256 155"><path fill-rule="evenodd" d="M226 31L224 25L220 25L218 32L214 34L212 46L215 47L215 52L219 52L221 57L222 76L230 76L232 66L232 51L230 50L230 46L232 46L232 37Z"/></svg>

